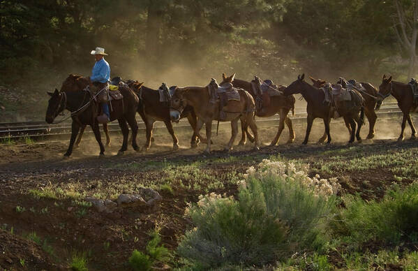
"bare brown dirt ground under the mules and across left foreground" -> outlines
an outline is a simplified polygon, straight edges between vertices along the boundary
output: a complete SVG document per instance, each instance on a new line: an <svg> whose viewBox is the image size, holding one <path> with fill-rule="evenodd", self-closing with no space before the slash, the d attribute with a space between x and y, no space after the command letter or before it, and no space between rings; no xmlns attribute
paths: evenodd
<svg viewBox="0 0 418 271"><path fill-rule="evenodd" d="M336 135L333 143L316 145L314 142L322 136L323 125L320 122L314 125L316 130L307 146L300 145L304 126L295 126L296 142L285 145L288 140L288 130L285 129L280 145L274 147L267 144L276 133L276 127L261 127L260 134L265 145L259 151L253 150L251 142L247 142L246 146L237 146L230 153L222 150L229 137L226 129L213 138L214 152L210 155L202 154L204 145L190 149L188 142L191 133L186 132L178 135L181 147L177 152L172 152L172 140L162 130L155 134L155 145L149 152L137 153L130 147L123 156L116 155L121 137L112 136L112 145L107 148L107 156L102 159L98 158L97 143L89 137L84 138L70 159L62 158L68 139L53 142L45 140L29 145L18 142L0 145L0 226L3 228L0 231L0 267L7 270L59 270L68 267L73 251L86 251L89 255L89 270L128 270L127 261L133 249L144 251L150 239L147 233L156 226L161 228L164 246L174 250L181 235L192 226L191 221L184 218L186 203L196 202L198 196L205 191L235 195L237 186L229 180L231 173L245 173L248 166L278 154L285 159L302 160L314 165L319 159L326 161L329 151L345 150L353 146L346 144L348 133L339 122L331 125L331 134L334 131ZM341 131L341 136L336 131ZM384 129L378 128L377 134L379 131ZM418 148L418 140L396 142L394 138L397 133L397 130L383 133L385 139L364 140L354 143L354 146L366 149L369 154ZM144 143L142 137L140 135L138 140L140 144ZM346 159L350 159L354 154L341 155L347 155ZM81 208L70 198L35 198L29 193L30 189L42 190L51 184L63 184L76 186L80 193L93 195L100 192L95 180L105 181L109 186L147 186L151 181L161 180L165 173L158 168L137 168L135 165L171 163L181 166L195 161L216 161L231 157L237 159L225 163L205 163L202 168L205 173L223 182L222 189L207 189L204 185L201 189L189 189L189 180L184 179L182 181L186 185L172 186L173 193L159 191L163 200L154 207L126 207L112 213L98 213L91 207L87 209L87 214L80 215ZM338 177L343 187L342 193L361 193L361 196L368 199L381 198L385 187L396 181L390 168L361 172L341 168L335 175L330 175L318 172L313 167L312 175L316 173L323 177ZM401 183L407 184L414 178L417 176L404 179ZM117 191L124 192L129 191ZM25 211L17 212L17 206L24 207ZM12 227L13 234L10 233ZM54 249L53 254L47 254L37 244L22 237L33 232L47 240ZM24 268L20 264L21 260L27 264Z"/></svg>

